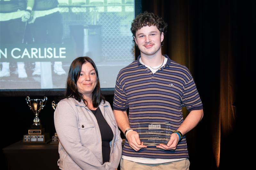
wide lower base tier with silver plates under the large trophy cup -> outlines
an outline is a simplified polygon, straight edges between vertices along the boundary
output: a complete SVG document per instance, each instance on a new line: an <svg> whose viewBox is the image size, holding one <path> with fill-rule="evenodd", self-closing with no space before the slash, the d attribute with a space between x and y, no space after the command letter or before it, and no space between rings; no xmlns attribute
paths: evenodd
<svg viewBox="0 0 256 170"><path fill-rule="evenodd" d="M23 135L23 143L46 143L49 142L49 133Z"/></svg>

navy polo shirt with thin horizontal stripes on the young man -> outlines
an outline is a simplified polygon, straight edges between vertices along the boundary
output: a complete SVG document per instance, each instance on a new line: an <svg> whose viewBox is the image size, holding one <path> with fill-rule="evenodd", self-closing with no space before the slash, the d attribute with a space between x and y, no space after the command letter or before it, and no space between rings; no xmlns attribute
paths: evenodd
<svg viewBox="0 0 256 170"><path fill-rule="evenodd" d="M170 124L172 133L183 122L182 107L188 111L203 109L188 68L167 55L164 57L167 58L166 64L155 74L140 63L140 56L118 73L113 107L121 111L129 107L130 127L137 132L139 123L163 122ZM176 150L169 151L148 146L136 152L126 140L122 154L151 159L188 158L186 137L178 143Z"/></svg>

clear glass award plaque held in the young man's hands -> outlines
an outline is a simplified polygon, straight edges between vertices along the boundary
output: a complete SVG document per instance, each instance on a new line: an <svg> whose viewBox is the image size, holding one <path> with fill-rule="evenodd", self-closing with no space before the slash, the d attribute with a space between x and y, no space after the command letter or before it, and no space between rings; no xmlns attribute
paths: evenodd
<svg viewBox="0 0 256 170"><path fill-rule="evenodd" d="M171 125L170 122L143 122L139 123L138 133L144 145L167 144L171 136Z"/></svg>

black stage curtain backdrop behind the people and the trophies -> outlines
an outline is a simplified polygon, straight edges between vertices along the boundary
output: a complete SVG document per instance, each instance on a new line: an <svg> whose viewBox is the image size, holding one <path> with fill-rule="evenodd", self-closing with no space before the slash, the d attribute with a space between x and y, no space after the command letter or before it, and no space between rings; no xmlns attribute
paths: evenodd
<svg viewBox="0 0 256 170"><path fill-rule="evenodd" d="M161 16L168 23L162 53L189 68L204 105L203 120L187 134L190 169L250 167L254 155L248 153L254 147L250 130L253 100L249 97L254 97L255 86L252 56L256 47L256 2L141 0L141 9ZM136 58L138 54L136 50ZM4 148L22 140L35 117L25 97L44 95L1 93ZM62 94L63 90L47 92L47 104L39 114L50 135L54 133L51 102L60 100ZM113 103L113 91L105 92L105 97ZM184 110L184 116L187 114ZM2 164L5 165L4 158Z"/></svg>

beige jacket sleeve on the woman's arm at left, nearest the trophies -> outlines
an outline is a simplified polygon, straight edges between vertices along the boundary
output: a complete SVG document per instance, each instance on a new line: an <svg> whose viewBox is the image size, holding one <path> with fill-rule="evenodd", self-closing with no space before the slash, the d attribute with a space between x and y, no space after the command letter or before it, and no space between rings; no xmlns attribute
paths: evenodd
<svg viewBox="0 0 256 170"><path fill-rule="evenodd" d="M60 101L54 112L55 129L64 150L82 169L114 169L109 162L100 164L90 149L82 145L78 131L76 108Z"/></svg>

